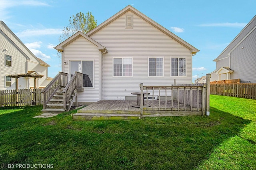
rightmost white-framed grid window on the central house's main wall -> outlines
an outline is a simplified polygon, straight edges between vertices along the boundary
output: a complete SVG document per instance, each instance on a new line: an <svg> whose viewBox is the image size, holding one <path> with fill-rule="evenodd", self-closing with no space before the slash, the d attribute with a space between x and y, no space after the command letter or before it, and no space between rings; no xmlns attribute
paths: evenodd
<svg viewBox="0 0 256 170"><path fill-rule="evenodd" d="M172 76L186 76L186 58L172 58L171 63L171 75Z"/></svg>

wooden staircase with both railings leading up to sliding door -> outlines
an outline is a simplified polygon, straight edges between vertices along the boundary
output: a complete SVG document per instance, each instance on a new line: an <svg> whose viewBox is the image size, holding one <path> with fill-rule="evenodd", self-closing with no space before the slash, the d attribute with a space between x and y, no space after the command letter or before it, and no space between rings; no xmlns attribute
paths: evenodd
<svg viewBox="0 0 256 170"><path fill-rule="evenodd" d="M69 111L76 102L77 92L82 92L82 73L76 72L68 82L67 73L59 74L43 90L44 113L62 113Z"/></svg>

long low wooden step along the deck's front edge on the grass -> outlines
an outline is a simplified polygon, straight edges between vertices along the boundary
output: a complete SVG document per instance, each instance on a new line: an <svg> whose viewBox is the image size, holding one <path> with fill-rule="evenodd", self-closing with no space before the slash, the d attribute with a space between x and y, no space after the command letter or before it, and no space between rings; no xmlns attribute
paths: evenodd
<svg viewBox="0 0 256 170"><path fill-rule="evenodd" d="M75 113L73 119L77 121L88 120L130 120L140 119L140 114L110 114L110 113Z"/></svg>

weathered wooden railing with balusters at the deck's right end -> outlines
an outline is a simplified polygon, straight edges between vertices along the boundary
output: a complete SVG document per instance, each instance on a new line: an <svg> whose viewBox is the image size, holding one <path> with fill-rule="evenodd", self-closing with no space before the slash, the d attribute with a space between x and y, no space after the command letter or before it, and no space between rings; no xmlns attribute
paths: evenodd
<svg viewBox="0 0 256 170"><path fill-rule="evenodd" d="M185 84L176 86L144 86L140 84L140 114L166 112L205 115L209 111L210 74L207 74L207 84ZM206 93L208 91L208 93ZM143 93L145 93L143 95ZM150 95L148 94L150 93ZM148 99L150 96L150 99ZM152 98L151 98L152 96ZM157 96L157 98L155 98ZM145 101L144 101L145 100ZM143 106L143 103L145 106Z"/></svg>

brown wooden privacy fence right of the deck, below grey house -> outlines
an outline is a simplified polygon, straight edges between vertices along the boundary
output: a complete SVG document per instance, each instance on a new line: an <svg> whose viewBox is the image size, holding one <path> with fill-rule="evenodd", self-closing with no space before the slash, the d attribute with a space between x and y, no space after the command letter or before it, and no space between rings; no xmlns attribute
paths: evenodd
<svg viewBox="0 0 256 170"><path fill-rule="evenodd" d="M210 94L256 99L256 84L229 83L210 84Z"/></svg>

